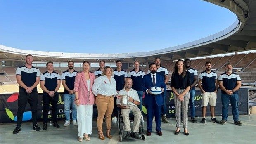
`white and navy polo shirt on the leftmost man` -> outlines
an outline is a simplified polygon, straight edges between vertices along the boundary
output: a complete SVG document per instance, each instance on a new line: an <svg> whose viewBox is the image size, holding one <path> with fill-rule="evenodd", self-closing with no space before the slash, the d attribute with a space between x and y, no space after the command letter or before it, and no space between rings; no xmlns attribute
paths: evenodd
<svg viewBox="0 0 256 144"><path fill-rule="evenodd" d="M26 65L17 68L16 76L21 76L21 81L27 86L31 87L36 82L36 77L40 76L40 71L38 68L32 66L30 69L26 67ZM33 92L37 92L37 87L35 87ZM19 92L26 92L26 90L19 86Z"/></svg>

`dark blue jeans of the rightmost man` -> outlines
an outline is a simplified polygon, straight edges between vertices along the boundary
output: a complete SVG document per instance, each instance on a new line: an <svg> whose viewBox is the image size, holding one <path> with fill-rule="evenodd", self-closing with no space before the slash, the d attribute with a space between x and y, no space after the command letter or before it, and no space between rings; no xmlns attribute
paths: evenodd
<svg viewBox="0 0 256 144"><path fill-rule="evenodd" d="M238 113L238 94L221 94L221 103L222 103L222 119L228 120L228 104L231 104L232 113L233 113L233 120L239 120L239 113Z"/></svg>

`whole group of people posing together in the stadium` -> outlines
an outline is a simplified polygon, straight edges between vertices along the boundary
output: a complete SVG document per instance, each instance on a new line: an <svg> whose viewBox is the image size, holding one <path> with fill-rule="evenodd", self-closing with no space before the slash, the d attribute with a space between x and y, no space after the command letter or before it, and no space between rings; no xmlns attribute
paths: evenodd
<svg viewBox="0 0 256 144"><path fill-rule="evenodd" d="M145 74L139 66L139 61L134 61L134 69L126 72L122 69L122 61L116 61L116 69L113 70L109 66L105 66L105 61L100 61L100 68L94 73L90 71L90 62L83 61L83 71L77 72L73 69L74 62L68 62L68 70L59 74L53 71L53 63L47 62L47 71L40 76L38 68L32 66L33 56L26 56L26 64L17 68L16 78L19 84L17 127L13 133L18 133L21 129L22 116L26 104L31 105L33 130L40 130L37 125L37 88L40 86L43 90L43 130L47 129L47 113L49 104L52 105L52 120L55 127L59 127L57 123L57 90L60 83L64 86L64 108L65 123L64 126L70 124L70 105L72 104L72 120L73 125L78 125L78 141L90 140L92 134L92 113L93 104L97 105L97 128L99 139L104 140L103 120L106 121L106 136L111 139L111 120L116 123L118 108L121 109L121 115L125 123L125 131L127 131L126 139L130 137L139 138L137 132L140 123L142 110L142 97L145 94L143 103L147 109L147 136L152 133L152 123L156 123L157 135L163 135L161 132L161 118L165 123L169 123L166 118L166 83L169 80L168 71L160 64L157 57L154 63L149 64L148 74ZM211 121L219 123L214 117L214 106L216 103L216 93L218 87L221 89L222 100L222 120L220 124L225 124L228 117L228 104L231 102L233 119L235 124L242 125L238 118L238 94L237 90L241 85L239 75L232 72L232 65L226 64L226 72L221 74L217 80L217 75L211 70L211 62L205 64L206 70L197 74L197 71L190 67L190 60L185 61L179 59L176 61L174 71L171 76L171 89L174 94L176 131L175 135L180 132L180 123L183 120L183 128L185 135L188 133L188 116L187 109L190 102L191 121L195 120L195 85L199 79L199 88L202 92L202 121L205 123L206 106L210 103ZM154 95L151 93L151 87L161 87L162 93ZM121 95L129 95L128 106L121 106L118 100ZM130 128L129 113L133 111L135 121L133 130ZM113 119L112 119L113 117Z"/></svg>

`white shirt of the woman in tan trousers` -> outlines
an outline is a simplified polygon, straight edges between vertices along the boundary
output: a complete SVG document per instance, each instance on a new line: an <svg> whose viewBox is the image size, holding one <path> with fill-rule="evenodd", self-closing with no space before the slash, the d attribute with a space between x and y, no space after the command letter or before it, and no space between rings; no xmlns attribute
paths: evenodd
<svg viewBox="0 0 256 144"><path fill-rule="evenodd" d="M117 95L116 80L113 77L110 77L110 81L106 75L96 78L94 80L94 84L92 85L92 93L96 96L98 94L104 96Z"/></svg>

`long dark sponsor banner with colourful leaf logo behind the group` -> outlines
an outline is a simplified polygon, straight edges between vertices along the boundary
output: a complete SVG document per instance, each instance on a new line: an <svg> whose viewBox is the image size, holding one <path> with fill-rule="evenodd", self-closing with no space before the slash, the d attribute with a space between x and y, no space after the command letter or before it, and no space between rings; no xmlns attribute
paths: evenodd
<svg viewBox="0 0 256 144"><path fill-rule="evenodd" d="M248 113L248 90L244 88L240 88L238 90L239 94L239 102L238 102L238 109L239 114L247 114ZM195 116L201 116L201 108L202 108L202 97L201 97L201 91L196 90L196 97L195 97ZM190 105L189 105L190 107ZM211 116L210 113L210 106L207 106L206 116ZM50 106L51 108L51 106ZM215 106L215 115L220 116L222 113L222 104L221 104L221 92L218 90L217 93L217 100L216 100L216 106ZM18 94L0 94L0 122L16 122L17 121L17 111L18 111ZM146 114L147 111L145 107L143 106L142 109L143 113ZM72 108L70 111L70 114L72 112ZM173 92L167 91L166 94L166 113L167 117L175 117L175 106L174 106L174 99L173 99ZM97 118L97 107L96 104L93 106L93 118ZM228 114L232 115L232 108L231 105L228 109ZM190 108L188 109L188 116L190 116ZM64 114L64 100L63 100L63 93L59 93L58 95L58 111L57 111L57 117L59 120L65 119ZM72 118L72 116L70 116ZM30 110L30 104L26 105L26 109L23 114L23 121L29 121L31 120L31 110ZM51 120L52 118L52 111L48 111L48 119ZM38 95L38 121L43 120L43 100L42 100L42 94Z"/></svg>

